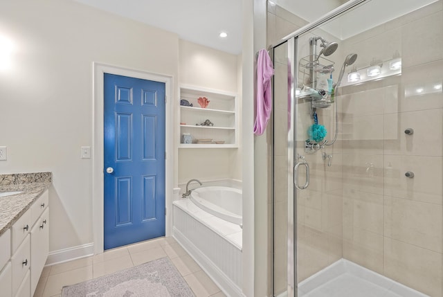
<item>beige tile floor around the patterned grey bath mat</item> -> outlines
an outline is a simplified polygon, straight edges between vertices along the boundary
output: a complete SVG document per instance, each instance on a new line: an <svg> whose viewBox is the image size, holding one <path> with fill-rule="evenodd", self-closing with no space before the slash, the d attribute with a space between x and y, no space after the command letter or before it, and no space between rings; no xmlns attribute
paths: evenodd
<svg viewBox="0 0 443 297"><path fill-rule="evenodd" d="M226 297L172 237L161 237L45 267L34 297L59 297L63 286L99 278L163 257L170 258L196 297Z"/></svg>

